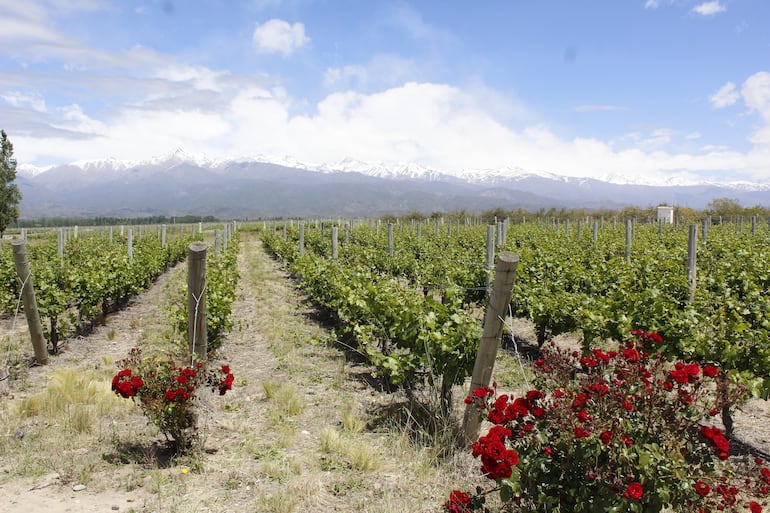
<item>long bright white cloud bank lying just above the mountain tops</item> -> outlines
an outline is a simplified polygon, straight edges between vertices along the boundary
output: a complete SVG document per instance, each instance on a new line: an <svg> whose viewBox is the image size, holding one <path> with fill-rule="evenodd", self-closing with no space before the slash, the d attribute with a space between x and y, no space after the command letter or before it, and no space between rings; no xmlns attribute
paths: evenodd
<svg viewBox="0 0 770 513"><path fill-rule="evenodd" d="M747 103L767 113L770 75L752 78L744 85ZM91 137L20 137L18 143L15 138L17 156L29 163L44 155L59 161L136 159L182 147L212 157L262 153L329 163L350 157L415 162L447 172L519 166L568 176L655 177L733 169L768 178L765 150L670 153L672 141L688 137L671 129L629 136L622 149L594 138L567 140L542 123L514 129L475 92L444 84L410 82L372 94L335 92L303 114L293 114L296 106L280 88L220 89L216 105L124 107L101 121L72 106L60 112L59 126Z"/></svg>

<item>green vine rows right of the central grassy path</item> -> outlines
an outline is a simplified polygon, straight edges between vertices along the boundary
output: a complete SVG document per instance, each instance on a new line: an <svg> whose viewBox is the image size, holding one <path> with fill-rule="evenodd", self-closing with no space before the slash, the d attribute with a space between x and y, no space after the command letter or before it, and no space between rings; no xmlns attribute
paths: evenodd
<svg viewBox="0 0 770 513"><path fill-rule="evenodd" d="M687 226L635 224L630 254L624 225L602 225L595 240L565 228L506 225L495 242L519 255L511 313L534 323L539 345L563 333L587 348L656 331L670 355L719 364L755 395L770 394L767 225L753 233L714 225L701 235L692 301ZM328 228L303 226L302 247L299 232L267 229L263 239L384 375L402 383L469 375L492 278L486 227L399 225L389 240L385 226L340 226L336 259Z"/></svg>

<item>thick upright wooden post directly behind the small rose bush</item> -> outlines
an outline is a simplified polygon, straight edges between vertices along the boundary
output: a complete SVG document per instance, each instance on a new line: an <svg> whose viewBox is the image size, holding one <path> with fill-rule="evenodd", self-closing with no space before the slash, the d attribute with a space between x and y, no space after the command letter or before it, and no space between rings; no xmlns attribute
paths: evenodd
<svg viewBox="0 0 770 513"><path fill-rule="evenodd" d="M206 244L193 242L187 251L187 343L200 361L206 359Z"/></svg>

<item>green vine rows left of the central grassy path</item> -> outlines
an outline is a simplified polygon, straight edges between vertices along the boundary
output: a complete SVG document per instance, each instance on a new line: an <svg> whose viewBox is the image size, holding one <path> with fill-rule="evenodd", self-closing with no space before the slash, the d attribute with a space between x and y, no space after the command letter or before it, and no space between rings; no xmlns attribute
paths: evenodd
<svg viewBox="0 0 770 513"><path fill-rule="evenodd" d="M56 234L44 234L27 244L35 296L44 335L56 351L58 341L88 332L104 315L124 306L148 288L169 267L184 260L188 247L202 234L180 234L162 241L154 234L130 241L104 233L83 234L57 248ZM207 325L210 347L231 328L230 312L238 281L238 238L229 239L223 251L211 252L207 260ZM21 307L18 278L10 244L0 247L0 315L13 316ZM186 338L186 290L180 286L179 300L170 316L172 325Z"/></svg>

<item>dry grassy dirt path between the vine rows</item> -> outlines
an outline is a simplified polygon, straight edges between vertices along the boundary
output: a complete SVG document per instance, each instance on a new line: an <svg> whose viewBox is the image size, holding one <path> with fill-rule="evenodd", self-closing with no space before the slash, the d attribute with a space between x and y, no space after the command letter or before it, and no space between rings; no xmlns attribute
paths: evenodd
<svg viewBox="0 0 770 513"><path fill-rule="evenodd" d="M51 365L30 369L2 399L3 418L59 369L93 371L109 391L115 360L166 336L164 305L184 267ZM66 439L48 442L59 457L32 457L53 435L43 416L23 417L2 428L3 511L435 511L468 478L466 458L437 467L437 455L410 431L381 420L402 411L403 397L377 392L369 369L330 347L329 333L250 234L242 234L238 267L234 329L214 355L236 383L225 397L203 397L202 449L164 461L138 408L113 397L119 402L90 433L68 436L68 421L60 422ZM77 485L85 489L73 491Z"/></svg>

